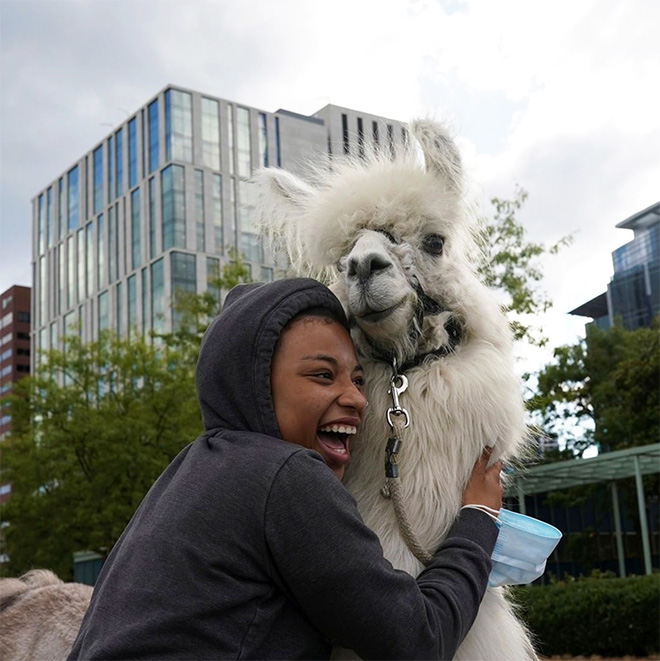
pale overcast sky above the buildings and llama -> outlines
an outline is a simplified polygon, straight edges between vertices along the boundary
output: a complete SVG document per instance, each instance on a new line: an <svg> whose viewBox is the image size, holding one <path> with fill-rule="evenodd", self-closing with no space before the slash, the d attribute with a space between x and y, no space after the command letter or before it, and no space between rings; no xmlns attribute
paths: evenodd
<svg viewBox="0 0 660 661"><path fill-rule="evenodd" d="M448 121L484 204L529 192L551 343L660 200L656 0L0 0L0 291L31 284L30 200L168 83L274 111Z"/></svg>

